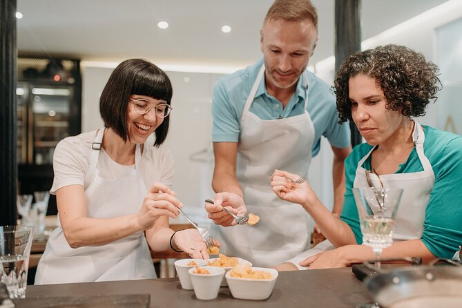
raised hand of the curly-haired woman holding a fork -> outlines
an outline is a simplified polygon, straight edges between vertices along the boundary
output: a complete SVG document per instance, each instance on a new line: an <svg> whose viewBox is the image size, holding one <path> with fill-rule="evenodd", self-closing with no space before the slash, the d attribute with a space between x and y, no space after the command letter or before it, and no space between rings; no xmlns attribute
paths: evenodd
<svg viewBox="0 0 462 308"><path fill-rule="evenodd" d="M308 182L301 184L293 183L291 180L296 180L300 176L288 173L286 171L275 170L271 175L271 188L282 200L286 200L292 203L305 204L309 200L309 196L313 194L313 190L309 186Z"/></svg>

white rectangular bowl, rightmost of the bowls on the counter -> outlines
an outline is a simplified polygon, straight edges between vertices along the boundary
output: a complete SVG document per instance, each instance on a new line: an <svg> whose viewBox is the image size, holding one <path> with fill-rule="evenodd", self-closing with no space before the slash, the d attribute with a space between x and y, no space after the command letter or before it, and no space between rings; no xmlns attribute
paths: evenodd
<svg viewBox="0 0 462 308"><path fill-rule="evenodd" d="M266 300L271 296L276 279L278 279L278 271L276 269L267 269L266 267L252 267L252 271L267 271L271 273L272 277L271 279L235 278L231 277L231 271L228 271L225 278L233 298Z"/></svg>

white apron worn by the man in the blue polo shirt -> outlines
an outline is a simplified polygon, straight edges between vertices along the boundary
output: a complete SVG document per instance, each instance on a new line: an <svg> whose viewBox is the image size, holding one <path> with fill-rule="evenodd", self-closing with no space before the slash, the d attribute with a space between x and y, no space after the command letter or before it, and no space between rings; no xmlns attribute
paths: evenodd
<svg viewBox="0 0 462 308"><path fill-rule="evenodd" d="M263 120L249 111L264 75L264 66L247 98L240 119L241 135L237 177L248 213L260 216L253 227L215 227L220 251L269 267L309 248L314 224L298 204L280 200L271 189L269 175L281 169L308 176L314 125L307 112L308 84L305 80L305 113L285 119Z"/></svg>

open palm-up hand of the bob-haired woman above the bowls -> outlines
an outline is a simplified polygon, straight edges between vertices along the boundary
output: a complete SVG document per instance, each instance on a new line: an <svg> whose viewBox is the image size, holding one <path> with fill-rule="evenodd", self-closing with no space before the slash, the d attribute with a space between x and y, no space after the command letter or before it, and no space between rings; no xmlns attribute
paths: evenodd
<svg viewBox="0 0 462 308"><path fill-rule="evenodd" d="M172 241L175 242L175 245L179 249L188 253L193 259L210 258L204 239L201 238L196 229L177 231L175 235L173 235ZM213 239L213 244L215 244L216 247L220 247L220 242L218 242L218 240Z"/></svg>

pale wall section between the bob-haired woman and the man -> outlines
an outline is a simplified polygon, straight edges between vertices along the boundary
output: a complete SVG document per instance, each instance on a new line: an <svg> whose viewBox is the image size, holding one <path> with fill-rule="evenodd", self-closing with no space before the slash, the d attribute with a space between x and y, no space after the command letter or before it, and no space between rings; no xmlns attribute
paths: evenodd
<svg viewBox="0 0 462 308"><path fill-rule="evenodd" d="M167 72L173 84L171 131L166 146L175 159L173 189L185 206L201 209L213 198L212 89L219 74ZM187 82L186 82L187 81ZM205 215L205 211L203 212Z"/></svg>

